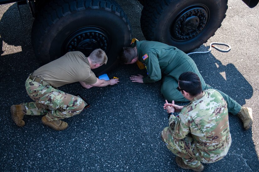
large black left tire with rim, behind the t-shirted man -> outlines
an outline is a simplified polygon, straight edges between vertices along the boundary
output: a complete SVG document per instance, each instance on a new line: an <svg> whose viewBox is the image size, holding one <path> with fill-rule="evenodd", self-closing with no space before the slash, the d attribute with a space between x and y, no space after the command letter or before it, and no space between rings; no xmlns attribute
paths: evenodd
<svg viewBox="0 0 259 172"><path fill-rule="evenodd" d="M68 51L88 56L103 49L108 62L93 70L96 75L113 68L119 51L130 42L127 16L113 0L53 0L40 10L32 27L34 52L42 64Z"/></svg>

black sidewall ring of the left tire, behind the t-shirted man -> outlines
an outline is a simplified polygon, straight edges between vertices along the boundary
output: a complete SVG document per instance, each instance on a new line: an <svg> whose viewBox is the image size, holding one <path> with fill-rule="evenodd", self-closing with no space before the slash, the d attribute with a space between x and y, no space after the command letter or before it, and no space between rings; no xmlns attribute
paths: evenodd
<svg viewBox="0 0 259 172"><path fill-rule="evenodd" d="M117 60L116 55L123 46L129 46L131 39L130 28L127 27L125 21L115 13L100 9L87 9L62 17L53 26L48 29L44 35L44 42L38 49L39 54L43 59L43 63L55 60L62 55L62 46L66 38L75 30L85 26L97 26L106 30L109 33L109 49L106 51L108 56L107 65L112 67ZM112 59L111 59L112 58ZM98 71L105 68L105 71L110 68L101 66Z"/></svg>

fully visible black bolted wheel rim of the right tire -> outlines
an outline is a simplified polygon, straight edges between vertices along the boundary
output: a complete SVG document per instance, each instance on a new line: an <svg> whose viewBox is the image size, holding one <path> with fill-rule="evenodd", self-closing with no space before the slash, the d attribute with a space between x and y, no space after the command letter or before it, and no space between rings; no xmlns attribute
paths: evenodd
<svg viewBox="0 0 259 172"><path fill-rule="evenodd" d="M208 20L208 7L202 4L189 6L178 13L171 23L171 38L177 42L189 41L202 32Z"/></svg>

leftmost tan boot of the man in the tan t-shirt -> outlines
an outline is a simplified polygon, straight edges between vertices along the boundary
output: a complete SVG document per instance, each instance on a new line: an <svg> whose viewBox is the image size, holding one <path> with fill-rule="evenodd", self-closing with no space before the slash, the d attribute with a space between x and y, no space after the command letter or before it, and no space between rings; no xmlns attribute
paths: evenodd
<svg viewBox="0 0 259 172"><path fill-rule="evenodd" d="M23 120L23 116L25 114L26 114L26 108L24 104L11 106L12 119L15 122L15 124L17 124L19 127L23 127L25 124Z"/></svg>

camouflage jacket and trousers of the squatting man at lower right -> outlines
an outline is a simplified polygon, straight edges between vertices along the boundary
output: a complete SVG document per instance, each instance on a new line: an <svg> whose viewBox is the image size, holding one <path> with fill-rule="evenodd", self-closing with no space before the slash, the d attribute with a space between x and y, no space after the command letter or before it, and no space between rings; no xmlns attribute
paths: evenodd
<svg viewBox="0 0 259 172"><path fill-rule="evenodd" d="M170 116L161 138L190 167L222 159L231 145L226 101L218 91L204 90L179 117Z"/></svg>

